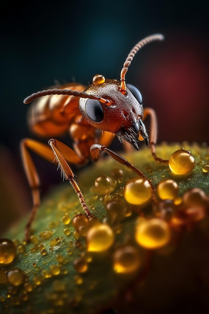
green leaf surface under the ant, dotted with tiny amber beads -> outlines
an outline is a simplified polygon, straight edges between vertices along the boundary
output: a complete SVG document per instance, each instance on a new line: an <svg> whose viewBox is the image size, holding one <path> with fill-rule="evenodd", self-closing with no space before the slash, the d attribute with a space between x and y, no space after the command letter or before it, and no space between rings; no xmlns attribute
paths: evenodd
<svg viewBox="0 0 209 314"><path fill-rule="evenodd" d="M154 162L146 147L123 155L155 186L162 179L171 178L179 185L179 196L193 187L208 195L209 173L202 171L202 166L209 160L207 147L189 146L187 143L161 144L157 146L157 154L169 159L172 152L181 146L191 151L196 163L195 169L186 176L174 175L167 164ZM115 182L109 196L98 195L94 188L96 178L109 176L114 181L114 169L121 169L123 178ZM27 218L14 226L5 237L15 239L19 253L10 265L3 265L3 269L7 272L17 267L26 277L18 286L0 284L0 312L96 313L113 306L119 313L170 313L179 309L180 304L186 306L186 301L192 298L195 298L195 304L207 308L209 253L205 248L209 244L208 209L204 208L206 214L199 220L185 222L182 218L182 226L174 228L172 225L172 238L168 245L155 250L146 249L135 239L136 221L139 215L148 219L155 217L156 213L150 204L138 208L127 204L123 198L126 181L136 176L105 157L78 177L92 215L110 225L114 232L114 243L104 252L89 252L86 238L75 233L73 217L83 212L69 183L60 184L43 200L32 226L36 244L23 242ZM125 217L117 223L106 212L108 200L114 197L122 200L128 208ZM63 222L66 214L71 219L67 225ZM132 272L116 273L113 256L124 247L134 248L139 265ZM79 262L80 268L75 266ZM32 291L29 291L29 286ZM185 308L192 309L192 306Z"/></svg>

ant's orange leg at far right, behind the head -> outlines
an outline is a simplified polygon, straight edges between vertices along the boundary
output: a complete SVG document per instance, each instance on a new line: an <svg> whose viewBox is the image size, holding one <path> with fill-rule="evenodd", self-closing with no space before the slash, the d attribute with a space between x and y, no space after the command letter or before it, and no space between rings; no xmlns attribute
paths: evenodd
<svg viewBox="0 0 209 314"><path fill-rule="evenodd" d="M156 113L152 108L144 108L144 119L150 116L150 134L149 134L149 146L151 149L152 156L156 162L168 164L168 160L159 158L155 152L155 146L157 141L157 117Z"/></svg>

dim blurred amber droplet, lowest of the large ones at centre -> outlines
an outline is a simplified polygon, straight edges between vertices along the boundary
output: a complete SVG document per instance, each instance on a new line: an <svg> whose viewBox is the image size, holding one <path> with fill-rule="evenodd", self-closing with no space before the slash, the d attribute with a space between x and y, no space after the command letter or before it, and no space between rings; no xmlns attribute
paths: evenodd
<svg viewBox="0 0 209 314"><path fill-rule="evenodd" d="M117 273L131 273L141 265L138 250L133 246L125 246L115 251L113 255L113 267Z"/></svg>

